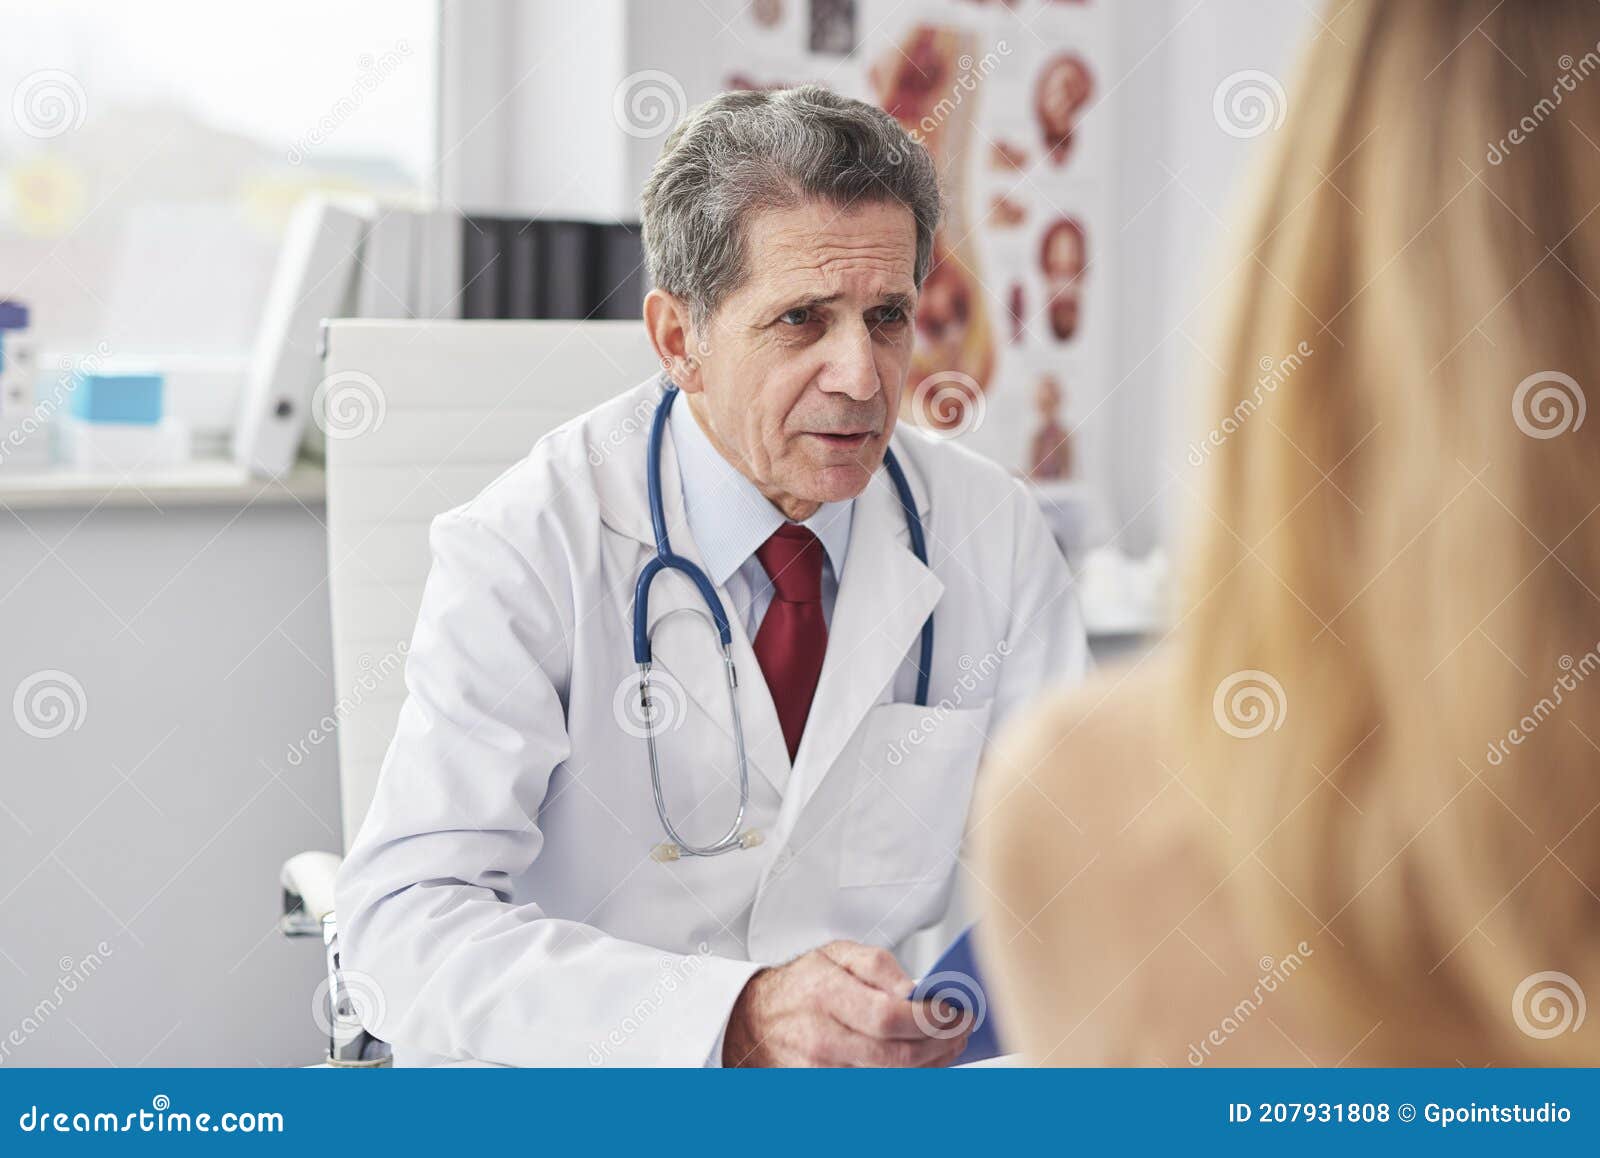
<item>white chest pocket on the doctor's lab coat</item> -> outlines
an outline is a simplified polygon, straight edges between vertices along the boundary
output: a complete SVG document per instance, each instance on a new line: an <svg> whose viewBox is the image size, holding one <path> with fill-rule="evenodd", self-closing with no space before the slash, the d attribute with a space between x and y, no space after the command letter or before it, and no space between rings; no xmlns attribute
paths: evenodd
<svg viewBox="0 0 1600 1158"><path fill-rule="evenodd" d="M990 704L880 704L862 721L840 884L942 881L960 851Z"/></svg>

